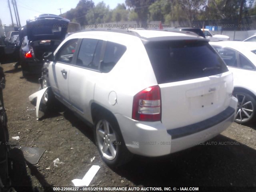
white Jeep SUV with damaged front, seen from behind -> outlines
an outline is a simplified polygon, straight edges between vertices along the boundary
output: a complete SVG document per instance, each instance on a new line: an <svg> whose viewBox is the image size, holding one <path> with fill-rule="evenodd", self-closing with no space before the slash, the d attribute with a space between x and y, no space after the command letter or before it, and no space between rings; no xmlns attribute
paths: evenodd
<svg viewBox="0 0 256 192"><path fill-rule="evenodd" d="M131 154L190 148L234 120L232 73L202 38L150 30L79 32L45 59L41 83L51 89L44 100L54 94L94 125L110 166Z"/></svg>

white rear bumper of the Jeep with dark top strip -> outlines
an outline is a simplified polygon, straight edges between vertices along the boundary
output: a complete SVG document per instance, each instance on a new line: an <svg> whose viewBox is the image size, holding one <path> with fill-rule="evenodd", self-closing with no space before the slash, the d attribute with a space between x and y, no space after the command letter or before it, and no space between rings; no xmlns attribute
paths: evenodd
<svg viewBox="0 0 256 192"><path fill-rule="evenodd" d="M163 156L196 146L217 136L234 121L236 109L237 99L233 97L226 111L229 114L226 113L226 116L222 119L223 113L220 113L217 117L214 116L215 118L212 117L216 121L203 121L200 127L195 128L193 132L188 132L190 126L180 128L178 132L170 132L160 121L139 122L121 114L115 115L126 147L130 152L143 156Z"/></svg>

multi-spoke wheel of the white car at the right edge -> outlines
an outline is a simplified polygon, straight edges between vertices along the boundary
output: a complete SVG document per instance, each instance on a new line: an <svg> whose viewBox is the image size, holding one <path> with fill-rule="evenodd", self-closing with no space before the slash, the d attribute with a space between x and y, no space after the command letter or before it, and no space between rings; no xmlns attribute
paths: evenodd
<svg viewBox="0 0 256 192"><path fill-rule="evenodd" d="M238 99L238 108L235 114L235 122L239 124L251 124L256 120L256 100L248 93L234 92Z"/></svg>

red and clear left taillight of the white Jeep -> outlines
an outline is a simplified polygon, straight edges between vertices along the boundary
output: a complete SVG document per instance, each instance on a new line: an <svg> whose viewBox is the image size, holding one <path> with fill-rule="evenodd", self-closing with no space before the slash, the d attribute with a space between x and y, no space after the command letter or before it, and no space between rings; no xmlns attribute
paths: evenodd
<svg viewBox="0 0 256 192"><path fill-rule="evenodd" d="M132 118L138 121L161 120L161 92L158 85L148 87L134 96Z"/></svg>

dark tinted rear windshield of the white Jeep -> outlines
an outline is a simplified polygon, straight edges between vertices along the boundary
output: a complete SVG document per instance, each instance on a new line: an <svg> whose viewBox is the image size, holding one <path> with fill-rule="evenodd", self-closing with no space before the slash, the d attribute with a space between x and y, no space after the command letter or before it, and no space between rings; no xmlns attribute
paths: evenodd
<svg viewBox="0 0 256 192"><path fill-rule="evenodd" d="M158 84L212 76L228 71L208 42L150 42L145 47Z"/></svg>

